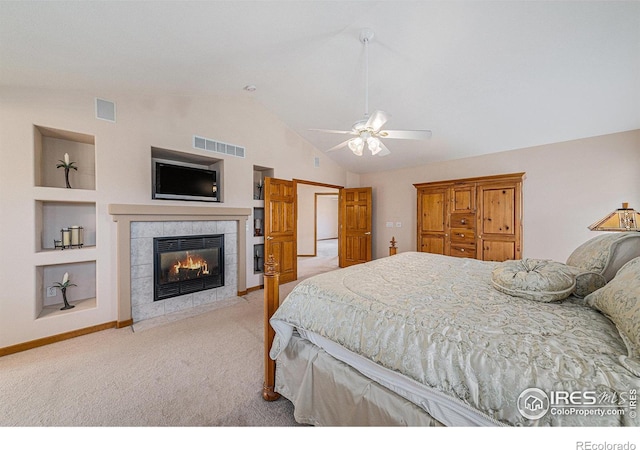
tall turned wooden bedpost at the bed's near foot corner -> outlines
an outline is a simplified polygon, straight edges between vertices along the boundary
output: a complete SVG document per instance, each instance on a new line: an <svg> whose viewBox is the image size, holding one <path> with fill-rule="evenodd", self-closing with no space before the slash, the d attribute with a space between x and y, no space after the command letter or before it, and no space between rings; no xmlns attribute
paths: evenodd
<svg viewBox="0 0 640 450"><path fill-rule="evenodd" d="M271 402L280 398L275 391L276 362L269 357L269 350L273 344L275 331L269 324L269 319L276 312L280 304L280 273L273 255L269 255L264 263L264 384L262 398Z"/></svg>

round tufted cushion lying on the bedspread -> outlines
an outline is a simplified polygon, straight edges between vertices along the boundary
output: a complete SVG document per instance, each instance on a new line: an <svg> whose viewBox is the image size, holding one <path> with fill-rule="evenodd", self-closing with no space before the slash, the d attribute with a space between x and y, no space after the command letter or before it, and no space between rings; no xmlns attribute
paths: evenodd
<svg viewBox="0 0 640 450"><path fill-rule="evenodd" d="M582 271L547 259L519 259L500 263L491 273L491 284L505 294L539 302L553 302L571 295Z"/></svg>

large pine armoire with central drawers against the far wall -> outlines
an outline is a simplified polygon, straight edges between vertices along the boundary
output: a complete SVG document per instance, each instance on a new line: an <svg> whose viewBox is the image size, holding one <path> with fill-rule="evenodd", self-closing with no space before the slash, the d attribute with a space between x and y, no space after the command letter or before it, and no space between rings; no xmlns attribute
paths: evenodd
<svg viewBox="0 0 640 450"><path fill-rule="evenodd" d="M521 259L524 173L417 183L418 251Z"/></svg>

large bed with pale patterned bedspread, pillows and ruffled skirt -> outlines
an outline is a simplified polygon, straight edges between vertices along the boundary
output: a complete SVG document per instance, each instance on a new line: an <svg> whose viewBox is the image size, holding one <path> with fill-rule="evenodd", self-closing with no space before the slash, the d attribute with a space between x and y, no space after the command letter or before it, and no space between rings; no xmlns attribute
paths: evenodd
<svg viewBox="0 0 640 450"><path fill-rule="evenodd" d="M640 425L640 233L566 263L399 253L301 281L267 323L263 396L300 423Z"/></svg>

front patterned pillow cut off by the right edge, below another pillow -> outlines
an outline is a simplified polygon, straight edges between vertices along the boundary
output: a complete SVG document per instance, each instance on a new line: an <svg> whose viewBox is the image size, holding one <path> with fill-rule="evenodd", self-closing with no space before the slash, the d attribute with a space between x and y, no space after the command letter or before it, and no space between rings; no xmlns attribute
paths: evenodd
<svg viewBox="0 0 640 450"><path fill-rule="evenodd" d="M616 325L629 358L640 359L640 257L622 266L613 280L584 301Z"/></svg>

